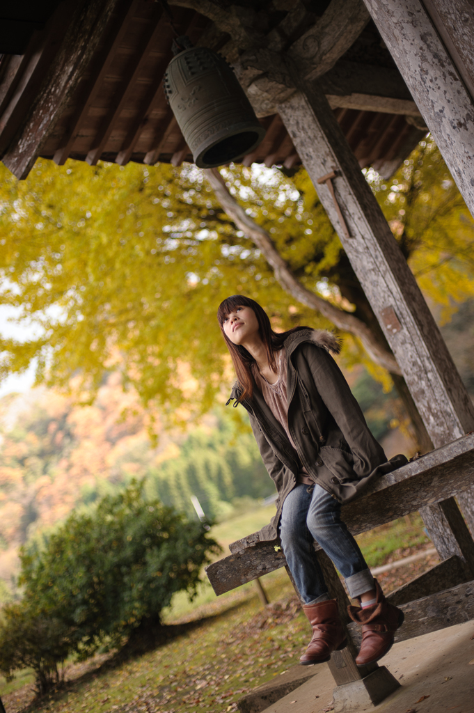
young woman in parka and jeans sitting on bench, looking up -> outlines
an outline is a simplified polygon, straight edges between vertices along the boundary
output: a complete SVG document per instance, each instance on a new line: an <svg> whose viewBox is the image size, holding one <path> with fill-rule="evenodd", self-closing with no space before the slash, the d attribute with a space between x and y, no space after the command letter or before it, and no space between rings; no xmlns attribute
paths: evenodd
<svg viewBox="0 0 474 713"><path fill-rule="evenodd" d="M378 661L393 644L403 612L389 604L354 537L341 521L341 503L359 496L383 473L406 463L387 461L336 362L330 332L295 327L278 334L262 307L236 294L217 318L237 381L227 404L242 404L269 476L277 486L277 513L260 540L279 535L313 636L303 665L329 660L346 638L336 600L329 597L313 540L341 572L352 599L349 615L362 625L356 663Z"/></svg>

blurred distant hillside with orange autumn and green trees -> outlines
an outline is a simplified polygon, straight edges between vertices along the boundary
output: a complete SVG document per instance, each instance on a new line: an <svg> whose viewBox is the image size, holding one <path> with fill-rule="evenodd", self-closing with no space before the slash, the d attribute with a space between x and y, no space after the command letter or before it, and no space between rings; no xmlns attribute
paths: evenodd
<svg viewBox="0 0 474 713"><path fill-rule="evenodd" d="M146 490L195 517L190 496L209 518L232 511L232 501L262 498L274 486L252 434L207 416L187 433L165 431L118 374L108 376L91 406L46 389L0 400L0 600L11 589L19 545L31 542L74 508L147 476Z"/></svg>

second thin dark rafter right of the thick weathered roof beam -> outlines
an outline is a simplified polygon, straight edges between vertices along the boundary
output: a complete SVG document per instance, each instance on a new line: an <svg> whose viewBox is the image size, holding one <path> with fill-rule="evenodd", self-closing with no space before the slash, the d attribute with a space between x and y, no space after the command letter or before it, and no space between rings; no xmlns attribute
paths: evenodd
<svg viewBox="0 0 474 713"><path fill-rule="evenodd" d="M148 59L151 48L156 43L159 30L158 23L162 14L163 7L158 4L154 4L153 16L147 21L143 37L141 38L141 41L143 42L143 50L134 58L134 61L129 63L128 71L123 78L123 82L120 83L109 111L103 120L101 128L98 130L98 133L93 140L92 148L86 156L86 161L91 166L95 166L99 158L101 158L105 144L107 143L110 133L112 133L113 125L119 118L120 113L122 113L125 102L127 101L133 86L135 86L138 76L140 76L140 71L142 71L143 65Z"/></svg>

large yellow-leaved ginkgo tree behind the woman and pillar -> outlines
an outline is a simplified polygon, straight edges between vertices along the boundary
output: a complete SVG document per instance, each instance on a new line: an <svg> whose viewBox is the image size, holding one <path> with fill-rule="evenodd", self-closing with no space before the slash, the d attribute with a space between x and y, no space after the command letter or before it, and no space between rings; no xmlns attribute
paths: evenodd
<svg viewBox="0 0 474 713"><path fill-rule="evenodd" d="M220 176L227 198L191 165L41 159L23 182L1 168L1 301L39 329L26 342L3 340L0 376L36 359L38 379L67 386L81 374L90 399L118 369L145 404L189 418L229 381L215 312L244 293L276 328L336 324L351 335L346 358L369 364L375 354L372 371L388 366L416 421L306 172L231 165ZM390 181L371 170L366 178L429 299L448 314L472 297L473 219L436 146L421 143ZM418 417L420 440L422 431Z"/></svg>

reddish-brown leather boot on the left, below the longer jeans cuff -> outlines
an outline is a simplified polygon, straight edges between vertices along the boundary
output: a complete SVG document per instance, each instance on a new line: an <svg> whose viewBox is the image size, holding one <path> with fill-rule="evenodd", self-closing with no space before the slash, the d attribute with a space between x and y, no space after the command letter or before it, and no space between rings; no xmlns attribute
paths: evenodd
<svg viewBox="0 0 474 713"><path fill-rule="evenodd" d="M347 645L346 631L339 619L336 600L306 604L303 605L303 611L313 627L313 637L299 660L300 664L311 666L329 661L333 651L344 649Z"/></svg>

